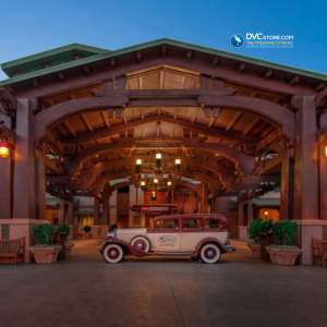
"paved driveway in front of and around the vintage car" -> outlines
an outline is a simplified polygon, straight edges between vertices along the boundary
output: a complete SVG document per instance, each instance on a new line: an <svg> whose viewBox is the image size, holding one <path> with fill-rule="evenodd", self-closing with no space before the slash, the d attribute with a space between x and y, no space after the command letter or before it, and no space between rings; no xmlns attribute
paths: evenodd
<svg viewBox="0 0 327 327"><path fill-rule="evenodd" d="M0 327L326 326L327 269L279 267L244 242L222 264L133 258L109 265L78 240L55 265L0 265Z"/></svg>

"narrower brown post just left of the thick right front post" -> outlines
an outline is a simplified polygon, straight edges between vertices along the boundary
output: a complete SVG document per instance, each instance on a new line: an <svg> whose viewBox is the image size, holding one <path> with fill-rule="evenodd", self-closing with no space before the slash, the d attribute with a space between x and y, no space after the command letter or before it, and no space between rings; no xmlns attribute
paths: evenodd
<svg viewBox="0 0 327 327"><path fill-rule="evenodd" d="M294 161L290 149L281 154L280 220L293 219Z"/></svg>

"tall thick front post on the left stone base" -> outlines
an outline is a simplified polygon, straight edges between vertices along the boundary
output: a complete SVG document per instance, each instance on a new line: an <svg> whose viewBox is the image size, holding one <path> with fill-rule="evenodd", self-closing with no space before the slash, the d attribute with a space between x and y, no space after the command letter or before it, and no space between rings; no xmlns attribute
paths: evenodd
<svg viewBox="0 0 327 327"><path fill-rule="evenodd" d="M34 131L28 99L17 99L14 218L35 218Z"/></svg>

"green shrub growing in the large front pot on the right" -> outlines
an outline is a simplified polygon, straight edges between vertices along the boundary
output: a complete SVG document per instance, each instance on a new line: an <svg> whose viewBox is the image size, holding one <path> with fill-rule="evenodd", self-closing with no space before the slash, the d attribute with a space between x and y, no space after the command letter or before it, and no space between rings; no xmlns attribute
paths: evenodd
<svg viewBox="0 0 327 327"><path fill-rule="evenodd" d="M277 221L272 227L274 239L276 245L295 245L296 240L296 222Z"/></svg>

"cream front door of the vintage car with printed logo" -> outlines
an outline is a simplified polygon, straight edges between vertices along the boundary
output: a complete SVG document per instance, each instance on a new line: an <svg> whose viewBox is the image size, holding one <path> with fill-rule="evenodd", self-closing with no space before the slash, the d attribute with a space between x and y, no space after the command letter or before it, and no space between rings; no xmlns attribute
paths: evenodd
<svg viewBox="0 0 327 327"><path fill-rule="evenodd" d="M157 220L148 233L153 251L179 252L181 250L180 218Z"/></svg>

